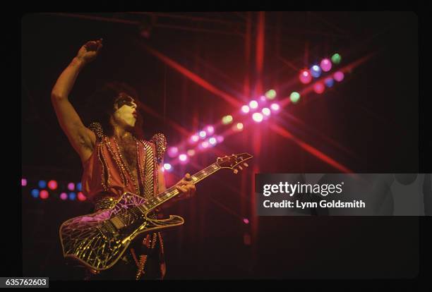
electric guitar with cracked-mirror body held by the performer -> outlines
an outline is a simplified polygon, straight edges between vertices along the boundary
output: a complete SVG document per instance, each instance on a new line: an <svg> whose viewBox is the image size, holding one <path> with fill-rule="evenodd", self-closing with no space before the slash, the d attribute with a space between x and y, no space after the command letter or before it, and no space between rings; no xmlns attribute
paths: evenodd
<svg viewBox="0 0 432 292"><path fill-rule="evenodd" d="M217 158L215 163L193 174L192 183L202 181L219 169L232 169L236 173L237 169L242 169L240 164L247 166L244 162L252 157L241 153ZM184 224L184 219L177 215L169 215L167 219L150 217L156 207L176 195L179 195L176 185L151 200L126 192L110 209L64 221L59 229L64 257L78 260L96 271L109 269L134 240L142 240L150 231Z"/></svg>

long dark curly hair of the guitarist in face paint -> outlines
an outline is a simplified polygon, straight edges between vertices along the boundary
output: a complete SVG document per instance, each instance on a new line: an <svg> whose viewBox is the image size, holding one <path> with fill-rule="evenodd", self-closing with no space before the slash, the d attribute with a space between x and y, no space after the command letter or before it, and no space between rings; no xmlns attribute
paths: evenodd
<svg viewBox="0 0 432 292"><path fill-rule="evenodd" d="M114 135L114 128L109 122L109 118L114 114L114 102L121 92L133 97L138 104L138 92L131 85L118 81L105 83L90 96L85 105L85 123L87 126L97 122L101 124L104 135ZM138 116L132 134L138 139L143 139L143 115L139 109L137 111Z"/></svg>

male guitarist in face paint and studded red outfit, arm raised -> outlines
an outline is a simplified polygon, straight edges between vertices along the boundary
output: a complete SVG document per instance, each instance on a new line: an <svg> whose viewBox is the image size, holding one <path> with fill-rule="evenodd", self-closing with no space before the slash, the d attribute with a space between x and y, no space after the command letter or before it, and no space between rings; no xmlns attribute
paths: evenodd
<svg viewBox="0 0 432 292"><path fill-rule="evenodd" d="M92 95L93 123L84 126L68 100L80 70L102 49L102 39L87 42L61 73L51 99L61 128L83 163L83 193L95 203L95 212L113 206L124 192L152 197L165 190L162 169L167 142L158 133L143 139L136 93L122 83L109 83ZM177 186L179 199L196 192L190 174ZM153 214L156 216L157 214ZM88 279L163 279L163 241L160 232L150 233L133 245L114 267L103 272L89 270Z"/></svg>

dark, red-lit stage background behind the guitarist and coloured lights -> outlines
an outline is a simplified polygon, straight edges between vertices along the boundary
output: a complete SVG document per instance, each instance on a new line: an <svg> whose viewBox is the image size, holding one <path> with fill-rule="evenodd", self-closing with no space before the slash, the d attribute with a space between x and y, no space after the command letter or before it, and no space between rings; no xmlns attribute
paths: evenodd
<svg viewBox="0 0 432 292"><path fill-rule="evenodd" d="M138 25L129 24L145 21L148 14L28 14L22 18L22 174L29 181L22 188L24 276L54 280L81 276L62 261L58 229L62 221L90 212L91 205L55 196L35 199L30 188L40 179L80 181L80 159L61 132L49 94L82 44L104 39L102 53L83 69L71 92L76 109L81 112L86 98L105 81L126 81L136 87L141 102L160 114L159 118L145 116L147 138L162 131L169 145L185 137L166 121L193 133L237 109L164 65L142 44L241 101L263 93L254 92L260 77L254 63L257 12L167 14L157 17L150 38L140 37ZM249 62L244 39L248 19L252 24ZM275 88L278 98L304 86L294 68L309 66L335 51L342 55L342 66L376 52L323 95L311 93L299 104L289 105L277 123L352 171L418 172L417 34L414 13L266 12L261 80L265 90ZM244 93L246 75L249 95ZM256 133L259 152L255 152ZM243 223L241 217L252 216L253 170L338 172L269 130L268 123L248 125L215 149L226 154L250 152L255 157L241 177L221 171L198 185L194 200L169 210L185 217L186 224L165 234L167 279L416 276L419 219L415 217L260 217L252 224ZM217 156L212 151L197 155L193 164L170 174L168 184L186 171L200 170L197 166L207 166Z"/></svg>

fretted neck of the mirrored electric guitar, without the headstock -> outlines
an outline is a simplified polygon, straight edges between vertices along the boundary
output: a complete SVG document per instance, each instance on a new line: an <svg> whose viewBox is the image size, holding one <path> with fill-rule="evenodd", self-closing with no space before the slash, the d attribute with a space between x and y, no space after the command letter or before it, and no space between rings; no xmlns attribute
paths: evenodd
<svg viewBox="0 0 432 292"><path fill-rule="evenodd" d="M198 171L196 174L193 174L191 176L192 183L196 184L199 181L202 181L204 178L207 178L211 174L214 174L219 169L221 169L221 167L217 165L217 163L210 164L210 166L207 166L205 169ZM176 189L176 185L181 186L180 183L177 183L172 187L167 188L167 190L164 190L164 192L153 197L152 200L145 203L145 206L143 207L145 207L145 209L154 209L155 207L162 205L164 202L171 200L176 195L179 195L180 192Z"/></svg>

